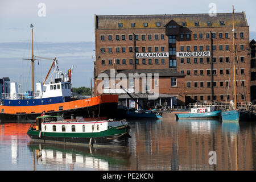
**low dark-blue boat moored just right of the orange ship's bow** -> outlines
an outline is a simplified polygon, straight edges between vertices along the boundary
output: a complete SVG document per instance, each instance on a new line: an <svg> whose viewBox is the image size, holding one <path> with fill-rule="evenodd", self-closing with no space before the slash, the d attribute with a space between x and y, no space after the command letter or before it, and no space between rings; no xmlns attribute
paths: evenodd
<svg viewBox="0 0 256 182"><path fill-rule="evenodd" d="M162 116L159 113L155 113L155 111L151 110L131 110L128 109L126 111L126 118L162 118Z"/></svg>

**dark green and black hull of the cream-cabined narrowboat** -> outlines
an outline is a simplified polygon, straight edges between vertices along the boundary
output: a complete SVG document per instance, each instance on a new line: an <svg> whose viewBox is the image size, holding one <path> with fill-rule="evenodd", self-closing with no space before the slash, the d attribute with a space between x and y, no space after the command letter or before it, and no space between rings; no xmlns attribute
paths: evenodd
<svg viewBox="0 0 256 182"><path fill-rule="evenodd" d="M109 129L98 133L53 133L29 129L27 135L32 141L93 146L127 146L129 129Z"/></svg>

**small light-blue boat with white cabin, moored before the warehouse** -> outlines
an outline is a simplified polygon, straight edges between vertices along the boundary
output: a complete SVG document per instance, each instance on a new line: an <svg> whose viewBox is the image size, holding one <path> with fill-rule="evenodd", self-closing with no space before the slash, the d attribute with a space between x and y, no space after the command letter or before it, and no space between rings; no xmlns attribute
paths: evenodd
<svg viewBox="0 0 256 182"><path fill-rule="evenodd" d="M175 114L176 119L216 119L220 118L221 110L215 110L215 107L192 108L191 112L184 114Z"/></svg>

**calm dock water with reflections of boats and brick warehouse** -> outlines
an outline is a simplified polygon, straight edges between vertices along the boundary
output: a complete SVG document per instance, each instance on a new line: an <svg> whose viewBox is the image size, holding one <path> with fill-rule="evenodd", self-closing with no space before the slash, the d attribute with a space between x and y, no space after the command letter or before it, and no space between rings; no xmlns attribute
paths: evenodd
<svg viewBox="0 0 256 182"><path fill-rule="evenodd" d="M0 123L0 170L255 170L255 123L133 120L129 146L115 148L34 143L30 123Z"/></svg>

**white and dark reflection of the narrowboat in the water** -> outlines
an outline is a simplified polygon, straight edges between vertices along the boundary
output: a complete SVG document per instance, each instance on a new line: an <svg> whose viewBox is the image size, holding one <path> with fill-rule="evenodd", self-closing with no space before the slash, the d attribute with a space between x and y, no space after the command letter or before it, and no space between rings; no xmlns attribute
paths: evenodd
<svg viewBox="0 0 256 182"><path fill-rule="evenodd" d="M34 170L38 170L36 165L41 169L47 166L50 170L111 170L112 166L129 165L130 154L126 147L100 148L38 142L30 142L28 147L34 154Z"/></svg>

